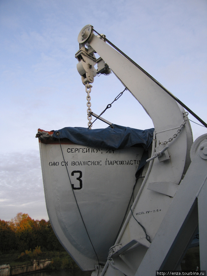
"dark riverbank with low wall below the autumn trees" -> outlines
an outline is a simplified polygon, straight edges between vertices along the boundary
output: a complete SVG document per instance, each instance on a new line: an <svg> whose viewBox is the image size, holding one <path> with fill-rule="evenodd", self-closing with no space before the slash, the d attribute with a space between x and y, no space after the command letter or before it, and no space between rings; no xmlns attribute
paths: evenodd
<svg viewBox="0 0 207 276"><path fill-rule="evenodd" d="M41 258L25 260L19 254L0 255L0 276L13 276L21 274L39 275L38 272L49 270L55 276L90 276L91 271L82 271L75 264L70 255L63 252L43 252ZM43 258L44 256L44 258ZM181 269L195 271L200 268L199 246L189 248L181 262ZM31 273L37 273L35 275ZM52 275L49 273L48 275ZM45 273L45 276L48 276ZM42 273L40 276L43 276Z"/></svg>

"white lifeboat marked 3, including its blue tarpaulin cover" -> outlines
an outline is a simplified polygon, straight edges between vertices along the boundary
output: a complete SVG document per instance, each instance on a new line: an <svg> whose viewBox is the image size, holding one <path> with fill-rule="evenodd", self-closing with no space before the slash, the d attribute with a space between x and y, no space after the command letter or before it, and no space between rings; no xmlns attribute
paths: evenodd
<svg viewBox="0 0 207 276"><path fill-rule="evenodd" d="M38 131L39 137L45 133ZM39 139L49 219L83 270L93 270L97 257L99 263L106 262L148 158L153 132L117 125L69 127Z"/></svg>

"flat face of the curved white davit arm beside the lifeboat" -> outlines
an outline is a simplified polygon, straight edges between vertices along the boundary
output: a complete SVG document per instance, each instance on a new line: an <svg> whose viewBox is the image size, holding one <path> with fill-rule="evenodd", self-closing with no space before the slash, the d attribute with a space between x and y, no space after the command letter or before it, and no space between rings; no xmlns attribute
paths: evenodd
<svg viewBox="0 0 207 276"><path fill-rule="evenodd" d="M163 142L172 137L183 123L184 110L139 68L97 36L91 36L87 42L144 107L154 123L156 140ZM169 197L166 193L161 194L158 191L149 190L148 185L156 182L160 185L168 183L170 186L170 183L172 183L174 187L174 185L179 184L185 168L190 163L189 151L191 144L192 134L190 124L187 123L178 137L167 144L170 160L159 162L158 159L154 159L154 161L151 161L154 162L151 172L143 188L137 194L132 211L146 229L151 240L155 237L172 197ZM157 146L159 146L158 143ZM139 240L144 237L143 229L129 213L116 243L126 246L132 240ZM133 251L133 254L130 251ZM124 254L124 258L123 254L114 257L113 266L122 271L123 274L133 275L142 262L147 247L134 247L127 252ZM106 270L105 276L107 275L109 273Z"/></svg>

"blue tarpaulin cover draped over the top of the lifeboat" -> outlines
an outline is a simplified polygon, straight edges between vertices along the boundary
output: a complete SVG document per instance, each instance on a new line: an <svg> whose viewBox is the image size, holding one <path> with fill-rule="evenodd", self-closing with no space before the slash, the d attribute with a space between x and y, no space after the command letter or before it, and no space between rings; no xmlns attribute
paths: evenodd
<svg viewBox="0 0 207 276"><path fill-rule="evenodd" d="M122 149L141 144L148 149L153 139L154 128L140 130L112 124L108 128L89 129L66 127L54 131L53 137L67 138L75 144L94 148Z"/></svg>

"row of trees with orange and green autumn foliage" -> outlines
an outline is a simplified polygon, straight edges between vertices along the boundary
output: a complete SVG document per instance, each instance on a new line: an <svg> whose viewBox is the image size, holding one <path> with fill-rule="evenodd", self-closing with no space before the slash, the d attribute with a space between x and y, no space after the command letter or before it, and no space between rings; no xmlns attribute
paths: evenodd
<svg viewBox="0 0 207 276"><path fill-rule="evenodd" d="M10 221L0 219L0 253L25 252L41 247L41 251L63 251L50 221L33 220L18 213Z"/></svg>

